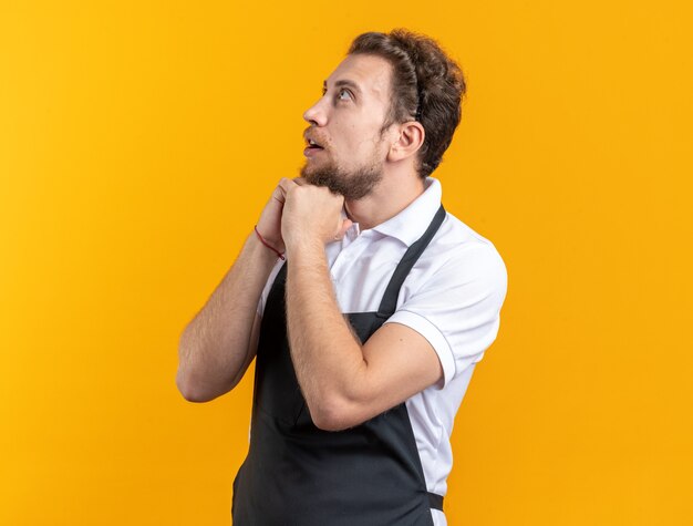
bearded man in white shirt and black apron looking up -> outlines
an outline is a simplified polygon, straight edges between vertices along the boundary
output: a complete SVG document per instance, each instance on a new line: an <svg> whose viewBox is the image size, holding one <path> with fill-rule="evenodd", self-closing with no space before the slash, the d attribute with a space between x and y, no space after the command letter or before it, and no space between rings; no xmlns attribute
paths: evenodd
<svg viewBox="0 0 693 526"><path fill-rule="evenodd" d="M358 37L303 115L302 177L279 182L182 334L189 401L231 390L257 355L237 526L446 524L455 412L507 283L430 176L464 92L433 40Z"/></svg>

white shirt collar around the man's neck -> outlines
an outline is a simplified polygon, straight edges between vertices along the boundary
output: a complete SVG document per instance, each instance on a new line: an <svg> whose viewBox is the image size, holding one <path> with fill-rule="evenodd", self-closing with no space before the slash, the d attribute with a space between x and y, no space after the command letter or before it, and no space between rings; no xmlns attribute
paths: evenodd
<svg viewBox="0 0 693 526"><path fill-rule="evenodd" d="M441 182L435 177L426 177L423 194L416 197L416 199L396 216L374 226L372 229L385 236L400 239L410 247L423 236L426 228L428 228L433 216L435 216L435 213L438 212L441 207L442 195L443 189ZM342 217L346 217L343 210ZM355 229L356 235L360 234L359 224L354 224L352 228Z"/></svg>

